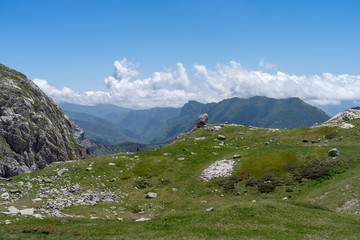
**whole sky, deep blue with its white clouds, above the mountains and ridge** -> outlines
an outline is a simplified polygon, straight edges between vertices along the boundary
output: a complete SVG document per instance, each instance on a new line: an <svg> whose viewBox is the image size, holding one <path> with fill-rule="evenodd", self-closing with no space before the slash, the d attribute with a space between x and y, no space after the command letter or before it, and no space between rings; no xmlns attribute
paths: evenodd
<svg viewBox="0 0 360 240"><path fill-rule="evenodd" d="M359 10L355 0L0 0L0 63L57 101L149 108L259 94L331 115L360 100Z"/></svg>

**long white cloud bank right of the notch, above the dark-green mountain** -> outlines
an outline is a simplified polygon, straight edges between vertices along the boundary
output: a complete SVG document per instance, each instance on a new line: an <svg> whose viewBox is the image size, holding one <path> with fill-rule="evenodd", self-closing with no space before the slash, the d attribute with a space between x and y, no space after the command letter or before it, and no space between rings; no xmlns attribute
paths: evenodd
<svg viewBox="0 0 360 240"><path fill-rule="evenodd" d="M234 96L299 97L313 104L328 105L340 104L342 100L359 99L360 75L269 74L243 69L240 63L234 61L228 65L218 65L215 70L195 65L195 70L195 76L204 80L219 100Z"/></svg>

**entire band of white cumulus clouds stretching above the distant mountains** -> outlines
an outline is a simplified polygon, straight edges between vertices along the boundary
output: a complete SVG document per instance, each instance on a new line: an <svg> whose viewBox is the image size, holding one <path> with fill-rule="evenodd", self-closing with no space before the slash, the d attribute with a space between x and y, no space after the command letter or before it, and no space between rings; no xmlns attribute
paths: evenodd
<svg viewBox="0 0 360 240"><path fill-rule="evenodd" d="M264 60L259 66L267 65ZM360 75L291 75L284 72L268 73L244 69L240 63L217 65L208 69L194 65L192 84L182 63L176 69L154 72L151 77L139 79L137 66L126 58L115 61L112 76L104 79L107 91L76 92L68 87L58 89L46 80L34 82L58 102L79 104L112 103L130 108L182 106L188 100L217 102L225 98L267 96L271 98L299 97L310 104L330 105L341 101L358 101Z"/></svg>

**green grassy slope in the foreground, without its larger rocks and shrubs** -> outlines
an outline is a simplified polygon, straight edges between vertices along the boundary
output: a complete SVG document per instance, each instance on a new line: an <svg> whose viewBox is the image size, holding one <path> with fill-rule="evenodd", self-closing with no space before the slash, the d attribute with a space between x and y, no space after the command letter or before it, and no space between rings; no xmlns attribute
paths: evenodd
<svg viewBox="0 0 360 240"><path fill-rule="evenodd" d="M50 177L56 175L55 169L69 167L68 173L47 186L56 188L69 179L72 183L79 183L83 191L112 190L123 198L118 203L102 202L64 211L84 218L38 220L0 215L2 223L5 219L13 222L2 225L0 235L19 239L358 239L360 218L354 213L359 207L355 205L346 211L336 211L346 201L360 198L360 120L351 123L356 128L271 131L226 126L219 132L198 129L157 151L61 163L17 176L12 181L14 186L20 180L26 182L26 177ZM223 146L220 146L221 141L215 140L219 133L227 137ZM327 143L325 135L330 138ZM303 143L305 138L320 138L321 141ZM264 142L271 144L265 145ZM335 160L327 157L328 150L333 147L341 153ZM197 155L190 156L183 148ZM236 183L234 190L226 191L218 180L210 183L199 180L202 170L212 162L232 158L234 154L242 156L234 172L234 176L242 181ZM179 157L185 160L180 161ZM332 174L317 181L303 177L299 183L289 172L289 162L299 170L300 166L309 165L314 160L332 164L335 167ZM93 172L86 172L85 168L91 162L95 162ZM116 165L109 166L109 163ZM256 187L246 186L249 178L261 179L269 173L281 185L274 192L259 193ZM116 180L111 182L113 178ZM223 180L229 182L229 178ZM136 185L145 188L135 189ZM30 199L35 198L37 188L34 186L28 197L14 205L18 208L36 207ZM287 191L289 188L292 192ZM158 193L158 197L145 199L149 191ZM237 192L241 194L237 195ZM283 200L284 197L288 200ZM110 206L117 209L111 210ZM126 210L118 209L120 206ZM209 207L215 210L206 212ZM4 205L0 206L0 211L5 211ZM90 220L90 216L99 219ZM118 217L124 221L117 220ZM140 217L152 220L134 222Z"/></svg>

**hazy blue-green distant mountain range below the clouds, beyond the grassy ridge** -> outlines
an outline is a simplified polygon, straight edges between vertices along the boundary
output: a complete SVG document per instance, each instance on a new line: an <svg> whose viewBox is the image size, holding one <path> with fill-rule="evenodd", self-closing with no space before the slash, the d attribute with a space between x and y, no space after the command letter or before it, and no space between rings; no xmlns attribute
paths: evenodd
<svg viewBox="0 0 360 240"><path fill-rule="evenodd" d="M189 101L182 108L133 110L110 104L60 105L89 138L108 145L124 142L164 143L194 127L195 118L209 115L209 123L236 123L269 128L311 126L329 119L322 110L299 98L231 98L219 103Z"/></svg>

